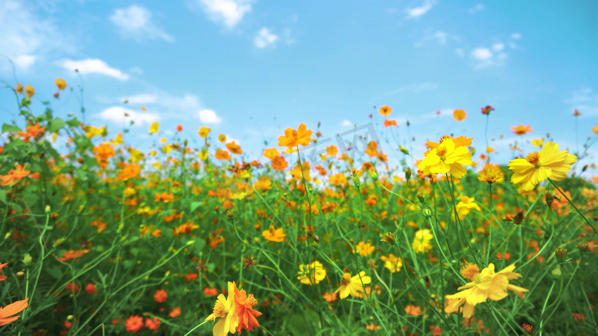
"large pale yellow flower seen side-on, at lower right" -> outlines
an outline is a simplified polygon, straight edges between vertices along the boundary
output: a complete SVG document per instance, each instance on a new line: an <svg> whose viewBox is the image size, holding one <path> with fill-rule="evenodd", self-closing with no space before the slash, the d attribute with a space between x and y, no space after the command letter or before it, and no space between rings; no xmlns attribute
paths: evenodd
<svg viewBox="0 0 598 336"><path fill-rule="evenodd" d="M495 273L494 264L488 265L480 273L474 274L471 282L466 283L465 286L459 287L459 291L453 295L447 295L449 300L456 299L453 304L453 309L458 309L463 306L463 318L469 319L474 315L475 305L486 302L488 299L492 301L500 301L507 297L507 290L515 292L518 297L523 298L524 292L529 292L519 286L511 285L509 280L515 280L521 277L521 274L513 272L515 264L503 268L502 271Z"/></svg>

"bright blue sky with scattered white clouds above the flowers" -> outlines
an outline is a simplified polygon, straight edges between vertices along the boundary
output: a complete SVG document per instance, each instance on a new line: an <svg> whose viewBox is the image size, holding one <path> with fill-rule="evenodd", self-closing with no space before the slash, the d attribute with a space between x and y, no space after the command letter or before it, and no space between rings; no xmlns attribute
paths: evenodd
<svg viewBox="0 0 598 336"><path fill-rule="evenodd" d="M370 121L389 105L398 127L382 148L395 156L393 132L414 155L426 140L454 133L486 146L492 105L493 160L512 157L509 143L545 138L572 152L598 123L598 14L595 1L14 1L0 3L0 78L36 88L34 106L51 100L57 116L78 112L53 82L83 80L86 122L149 148L177 124L197 139L200 126L240 142L248 158L276 145L286 127L306 123L324 136ZM74 73L80 69L81 77ZM129 103L124 104L124 99ZM142 111L144 106L148 111ZM578 140L575 135L575 108ZM468 113L465 121L451 117ZM441 111L441 115L435 114ZM0 121L17 113L0 90ZM521 137L510 127L530 124ZM504 138L499 136L503 134ZM594 148L591 149L594 151ZM591 160L587 161L589 163Z"/></svg>

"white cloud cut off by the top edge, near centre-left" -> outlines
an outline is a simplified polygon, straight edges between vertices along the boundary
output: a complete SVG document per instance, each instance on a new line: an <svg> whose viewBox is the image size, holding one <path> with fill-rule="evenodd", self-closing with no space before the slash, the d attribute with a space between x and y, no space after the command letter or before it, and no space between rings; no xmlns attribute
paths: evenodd
<svg viewBox="0 0 598 336"><path fill-rule="evenodd" d="M190 6L202 8L210 20L222 22L228 28L236 26L251 11L248 0L192 0Z"/></svg>

